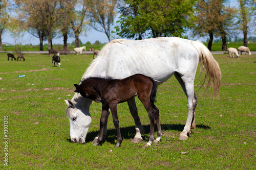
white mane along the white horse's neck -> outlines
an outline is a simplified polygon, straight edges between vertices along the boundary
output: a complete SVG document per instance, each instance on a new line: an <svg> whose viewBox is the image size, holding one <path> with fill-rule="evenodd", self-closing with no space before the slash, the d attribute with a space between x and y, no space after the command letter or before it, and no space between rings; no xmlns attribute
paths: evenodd
<svg viewBox="0 0 256 170"><path fill-rule="evenodd" d="M89 67L86 69L86 72L84 72L84 74L82 75L82 79L81 81L83 81L83 79L87 78L87 75L89 74L89 72L91 72L91 70L93 69L93 67L95 66L95 64L98 62L98 60L104 56L107 56L106 54L109 53L109 49L110 47L114 44L114 43L120 43L123 41L123 39L115 39L107 44L105 44L102 49L100 50L98 56L96 56L96 58L91 62L91 64L89 65Z"/></svg>

